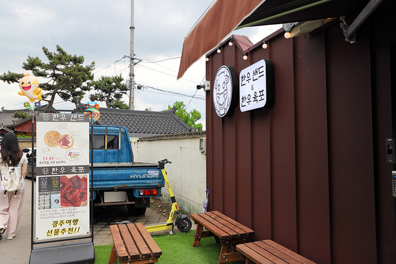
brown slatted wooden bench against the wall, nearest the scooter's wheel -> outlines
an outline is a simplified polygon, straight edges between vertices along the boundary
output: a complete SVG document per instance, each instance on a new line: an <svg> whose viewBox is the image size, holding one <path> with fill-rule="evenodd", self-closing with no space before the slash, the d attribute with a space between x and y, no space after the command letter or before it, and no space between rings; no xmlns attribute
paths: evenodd
<svg viewBox="0 0 396 264"><path fill-rule="evenodd" d="M201 238L215 236L216 242L222 244L219 263L241 260L231 244L250 242L254 231L218 211L192 214L196 231L193 247L200 246ZM206 230L204 230L204 228Z"/></svg>

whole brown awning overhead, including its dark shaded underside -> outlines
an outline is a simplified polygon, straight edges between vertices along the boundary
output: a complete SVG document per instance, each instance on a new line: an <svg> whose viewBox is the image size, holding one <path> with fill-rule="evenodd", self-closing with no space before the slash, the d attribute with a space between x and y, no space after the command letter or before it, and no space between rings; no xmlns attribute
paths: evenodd
<svg viewBox="0 0 396 264"><path fill-rule="evenodd" d="M216 48L235 29L359 14L368 2L369 0L217 0L187 33L177 78L181 78L197 59Z"/></svg>

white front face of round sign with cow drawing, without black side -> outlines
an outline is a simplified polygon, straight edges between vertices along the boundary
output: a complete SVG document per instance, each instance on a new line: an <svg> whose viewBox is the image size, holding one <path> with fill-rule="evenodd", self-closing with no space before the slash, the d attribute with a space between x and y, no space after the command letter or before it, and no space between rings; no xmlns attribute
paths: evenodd
<svg viewBox="0 0 396 264"><path fill-rule="evenodd" d="M227 66L222 66L216 73L213 85L213 105L217 115L223 117L231 105L232 79Z"/></svg>

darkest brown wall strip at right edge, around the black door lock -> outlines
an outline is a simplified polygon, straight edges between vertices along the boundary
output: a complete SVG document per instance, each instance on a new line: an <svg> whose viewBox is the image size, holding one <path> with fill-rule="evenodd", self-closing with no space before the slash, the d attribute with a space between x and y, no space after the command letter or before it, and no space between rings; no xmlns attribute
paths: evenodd
<svg viewBox="0 0 396 264"><path fill-rule="evenodd" d="M389 10L388 17L392 17L392 11ZM393 42L394 56L390 56L390 39L384 39L387 29L380 25L373 25L378 32L375 33L376 39L383 39L381 42L375 42L375 49L371 56L372 67L372 85L374 95L374 155L375 155L375 185L377 189L377 222L378 222L378 263L392 263L396 259L396 219L394 198L390 195L390 177L391 171L394 170L392 164L386 163L385 138L394 137L396 131L389 126L392 124L391 109L391 89L393 92L396 88L396 45ZM392 35L394 38L394 35ZM385 40L385 41L384 41ZM389 65L393 65L389 69ZM389 89L389 84L391 89ZM393 102L394 103L394 102ZM393 119L395 116L393 116Z"/></svg>

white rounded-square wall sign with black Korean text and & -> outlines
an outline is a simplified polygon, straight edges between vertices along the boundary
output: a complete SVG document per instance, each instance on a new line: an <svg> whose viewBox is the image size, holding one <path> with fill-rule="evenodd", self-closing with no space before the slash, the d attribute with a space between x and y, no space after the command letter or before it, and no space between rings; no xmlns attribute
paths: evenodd
<svg viewBox="0 0 396 264"><path fill-rule="evenodd" d="M243 69L240 73L240 109L242 112L264 107L267 103L267 77L265 60Z"/></svg>

